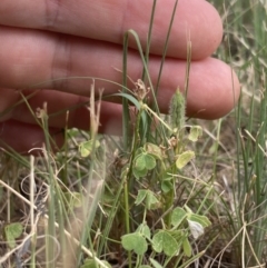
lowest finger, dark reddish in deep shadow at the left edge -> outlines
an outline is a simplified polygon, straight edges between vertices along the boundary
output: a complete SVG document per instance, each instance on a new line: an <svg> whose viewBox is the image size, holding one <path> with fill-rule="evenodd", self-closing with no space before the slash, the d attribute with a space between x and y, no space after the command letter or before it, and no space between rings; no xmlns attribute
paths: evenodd
<svg viewBox="0 0 267 268"><path fill-rule="evenodd" d="M58 150L63 145L63 132L60 129L50 128L51 149ZM43 130L36 125L21 123L8 120L0 123L0 148L28 153L33 149L33 155L42 152L44 142Z"/></svg>

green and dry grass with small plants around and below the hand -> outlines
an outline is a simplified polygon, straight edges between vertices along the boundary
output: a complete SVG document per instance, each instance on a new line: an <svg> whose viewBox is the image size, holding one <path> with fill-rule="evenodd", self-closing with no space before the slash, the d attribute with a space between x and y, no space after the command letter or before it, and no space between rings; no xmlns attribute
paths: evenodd
<svg viewBox="0 0 267 268"><path fill-rule="evenodd" d="M139 50L140 43L127 32L122 137L98 135L95 110L90 131L67 131L57 155L47 135L43 158L0 156L2 267L265 267L266 9L260 1L214 2L225 26L216 57L243 83L238 107L217 121L191 119L187 128L180 95L170 117L157 103L147 107L148 87L156 95L158 86L147 71L147 51L140 53L141 80L129 93L128 37ZM132 132L129 102L136 107ZM39 116L48 133L46 109Z"/></svg>

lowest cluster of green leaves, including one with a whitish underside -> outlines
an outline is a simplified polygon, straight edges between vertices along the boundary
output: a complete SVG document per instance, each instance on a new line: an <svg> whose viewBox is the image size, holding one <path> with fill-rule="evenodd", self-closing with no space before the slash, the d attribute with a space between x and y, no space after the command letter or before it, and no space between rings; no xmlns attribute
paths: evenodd
<svg viewBox="0 0 267 268"><path fill-rule="evenodd" d="M147 209L150 209L150 204ZM210 225L206 216L192 214L188 207L177 207L171 212L171 229L156 230L151 237L149 227L144 222L135 232L122 236L121 241L125 249L140 256L146 254L150 245L155 252L164 252L167 257L174 257L180 250L186 257L191 257L190 235L198 239L204 234L204 228Z"/></svg>

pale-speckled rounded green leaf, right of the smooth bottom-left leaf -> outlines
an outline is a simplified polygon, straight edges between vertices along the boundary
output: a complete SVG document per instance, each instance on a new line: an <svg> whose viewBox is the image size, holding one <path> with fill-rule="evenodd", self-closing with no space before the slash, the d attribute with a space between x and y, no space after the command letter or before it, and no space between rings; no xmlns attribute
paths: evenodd
<svg viewBox="0 0 267 268"><path fill-rule="evenodd" d="M179 250L179 245L167 231L160 230L152 238L152 248L156 252L164 251L167 256L172 257Z"/></svg>

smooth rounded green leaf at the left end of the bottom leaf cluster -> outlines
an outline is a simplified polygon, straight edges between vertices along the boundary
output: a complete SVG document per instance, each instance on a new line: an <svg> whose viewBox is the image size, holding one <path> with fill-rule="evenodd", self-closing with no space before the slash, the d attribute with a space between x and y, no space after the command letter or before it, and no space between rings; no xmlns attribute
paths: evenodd
<svg viewBox="0 0 267 268"><path fill-rule="evenodd" d="M122 236L121 244L126 250L134 250L137 255L144 255L148 248L146 239L138 232Z"/></svg>

